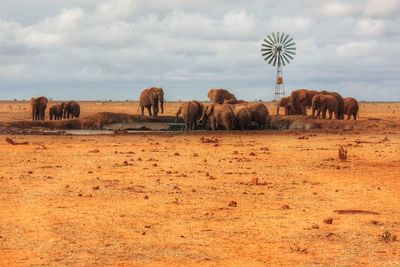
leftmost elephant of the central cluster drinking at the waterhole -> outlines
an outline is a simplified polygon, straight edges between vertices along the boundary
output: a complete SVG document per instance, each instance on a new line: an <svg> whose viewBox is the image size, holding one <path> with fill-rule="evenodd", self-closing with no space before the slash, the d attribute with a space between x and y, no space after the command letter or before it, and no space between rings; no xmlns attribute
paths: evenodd
<svg viewBox="0 0 400 267"><path fill-rule="evenodd" d="M194 130L196 122L203 116L203 104L198 101L189 101L183 103L178 111L176 112L176 120L178 122L179 115L182 115L183 121L185 122L185 131ZM205 124L205 123L203 123ZM204 126L204 125L203 125Z"/></svg>

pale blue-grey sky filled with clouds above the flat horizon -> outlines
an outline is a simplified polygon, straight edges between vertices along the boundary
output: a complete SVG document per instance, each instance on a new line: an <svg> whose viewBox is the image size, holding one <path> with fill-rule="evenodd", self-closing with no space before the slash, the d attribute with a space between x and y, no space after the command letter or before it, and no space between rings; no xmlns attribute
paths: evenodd
<svg viewBox="0 0 400 267"><path fill-rule="evenodd" d="M290 34L287 93L400 101L400 0L0 0L0 99L205 100L210 88L272 100L261 56Z"/></svg>

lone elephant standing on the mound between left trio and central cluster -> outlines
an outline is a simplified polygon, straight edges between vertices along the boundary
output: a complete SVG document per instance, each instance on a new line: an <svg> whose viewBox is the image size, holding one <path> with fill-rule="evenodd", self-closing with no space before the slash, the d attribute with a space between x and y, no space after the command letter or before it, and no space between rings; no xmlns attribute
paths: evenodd
<svg viewBox="0 0 400 267"><path fill-rule="evenodd" d="M158 115L158 101L160 101L161 114L164 113L164 91L161 87L151 87L143 90L140 93L140 110L142 116L144 115L144 108L149 111L149 116L157 117ZM153 108L153 113L151 112Z"/></svg>

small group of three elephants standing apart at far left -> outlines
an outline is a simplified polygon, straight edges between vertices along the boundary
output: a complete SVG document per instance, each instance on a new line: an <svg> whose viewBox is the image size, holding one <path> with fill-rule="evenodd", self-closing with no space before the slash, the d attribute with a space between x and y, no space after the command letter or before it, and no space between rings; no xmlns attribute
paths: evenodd
<svg viewBox="0 0 400 267"><path fill-rule="evenodd" d="M44 120L48 99L44 96L31 99L32 120ZM75 101L62 102L49 108L50 120L61 120L79 118L81 113L80 105Z"/></svg>

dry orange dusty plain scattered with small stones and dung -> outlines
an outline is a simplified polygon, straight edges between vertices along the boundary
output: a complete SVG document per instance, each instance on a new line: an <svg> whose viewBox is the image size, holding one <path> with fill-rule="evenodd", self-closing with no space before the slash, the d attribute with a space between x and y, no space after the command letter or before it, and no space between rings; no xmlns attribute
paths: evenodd
<svg viewBox="0 0 400 267"><path fill-rule="evenodd" d="M399 125L400 103L359 119ZM0 136L0 266L400 266L399 239L400 127Z"/></svg>

